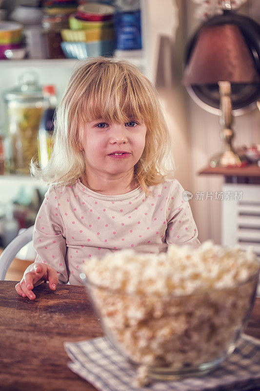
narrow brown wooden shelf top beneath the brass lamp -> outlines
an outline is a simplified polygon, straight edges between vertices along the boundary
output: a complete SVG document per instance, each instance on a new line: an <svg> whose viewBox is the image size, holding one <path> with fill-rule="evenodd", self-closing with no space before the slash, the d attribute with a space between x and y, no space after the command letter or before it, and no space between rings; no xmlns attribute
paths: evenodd
<svg viewBox="0 0 260 391"><path fill-rule="evenodd" d="M199 171L198 174L260 177L260 167L257 164L249 164L245 167L205 167L203 170Z"/></svg>

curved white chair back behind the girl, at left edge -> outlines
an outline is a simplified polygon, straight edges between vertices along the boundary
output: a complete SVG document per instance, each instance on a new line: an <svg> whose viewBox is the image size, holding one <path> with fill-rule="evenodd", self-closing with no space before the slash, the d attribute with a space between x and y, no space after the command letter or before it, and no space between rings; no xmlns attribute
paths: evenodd
<svg viewBox="0 0 260 391"><path fill-rule="evenodd" d="M8 244L0 256L0 281L5 279L6 272L18 251L33 238L34 225L27 228Z"/></svg>

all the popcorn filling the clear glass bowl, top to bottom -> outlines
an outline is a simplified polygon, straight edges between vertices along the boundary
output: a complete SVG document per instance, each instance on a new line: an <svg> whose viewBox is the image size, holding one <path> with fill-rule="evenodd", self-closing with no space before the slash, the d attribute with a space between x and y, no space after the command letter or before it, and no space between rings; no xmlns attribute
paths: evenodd
<svg viewBox="0 0 260 391"><path fill-rule="evenodd" d="M147 369L199 368L221 360L238 338L258 281L252 250L169 245L167 253L133 250L92 257L84 272L111 341ZM252 278L251 278L252 277Z"/></svg>

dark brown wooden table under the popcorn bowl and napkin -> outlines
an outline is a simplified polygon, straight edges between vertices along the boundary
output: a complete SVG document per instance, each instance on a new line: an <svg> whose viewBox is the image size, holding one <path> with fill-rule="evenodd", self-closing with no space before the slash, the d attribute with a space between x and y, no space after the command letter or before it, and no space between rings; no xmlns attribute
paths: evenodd
<svg viewBox="0 0 260 391"><path fill-rule="evenodd" d="M0 281L0 390L96 390L67 367L63 343L103 335L83 286L43 283L36 300L22 298L16 282ZM260 298L246 332L260 338Z"/></svg>

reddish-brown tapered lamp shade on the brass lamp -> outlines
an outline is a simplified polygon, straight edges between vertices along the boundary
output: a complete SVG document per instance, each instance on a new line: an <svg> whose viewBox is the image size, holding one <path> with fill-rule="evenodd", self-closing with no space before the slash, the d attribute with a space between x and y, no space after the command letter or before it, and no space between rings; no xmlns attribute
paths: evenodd
<svg viewBox="0 0 260 391"><path fill-rule="evenodd" d="M184 84L259 83L248 46L236 24L203 26L184 70Z"/></svg>

